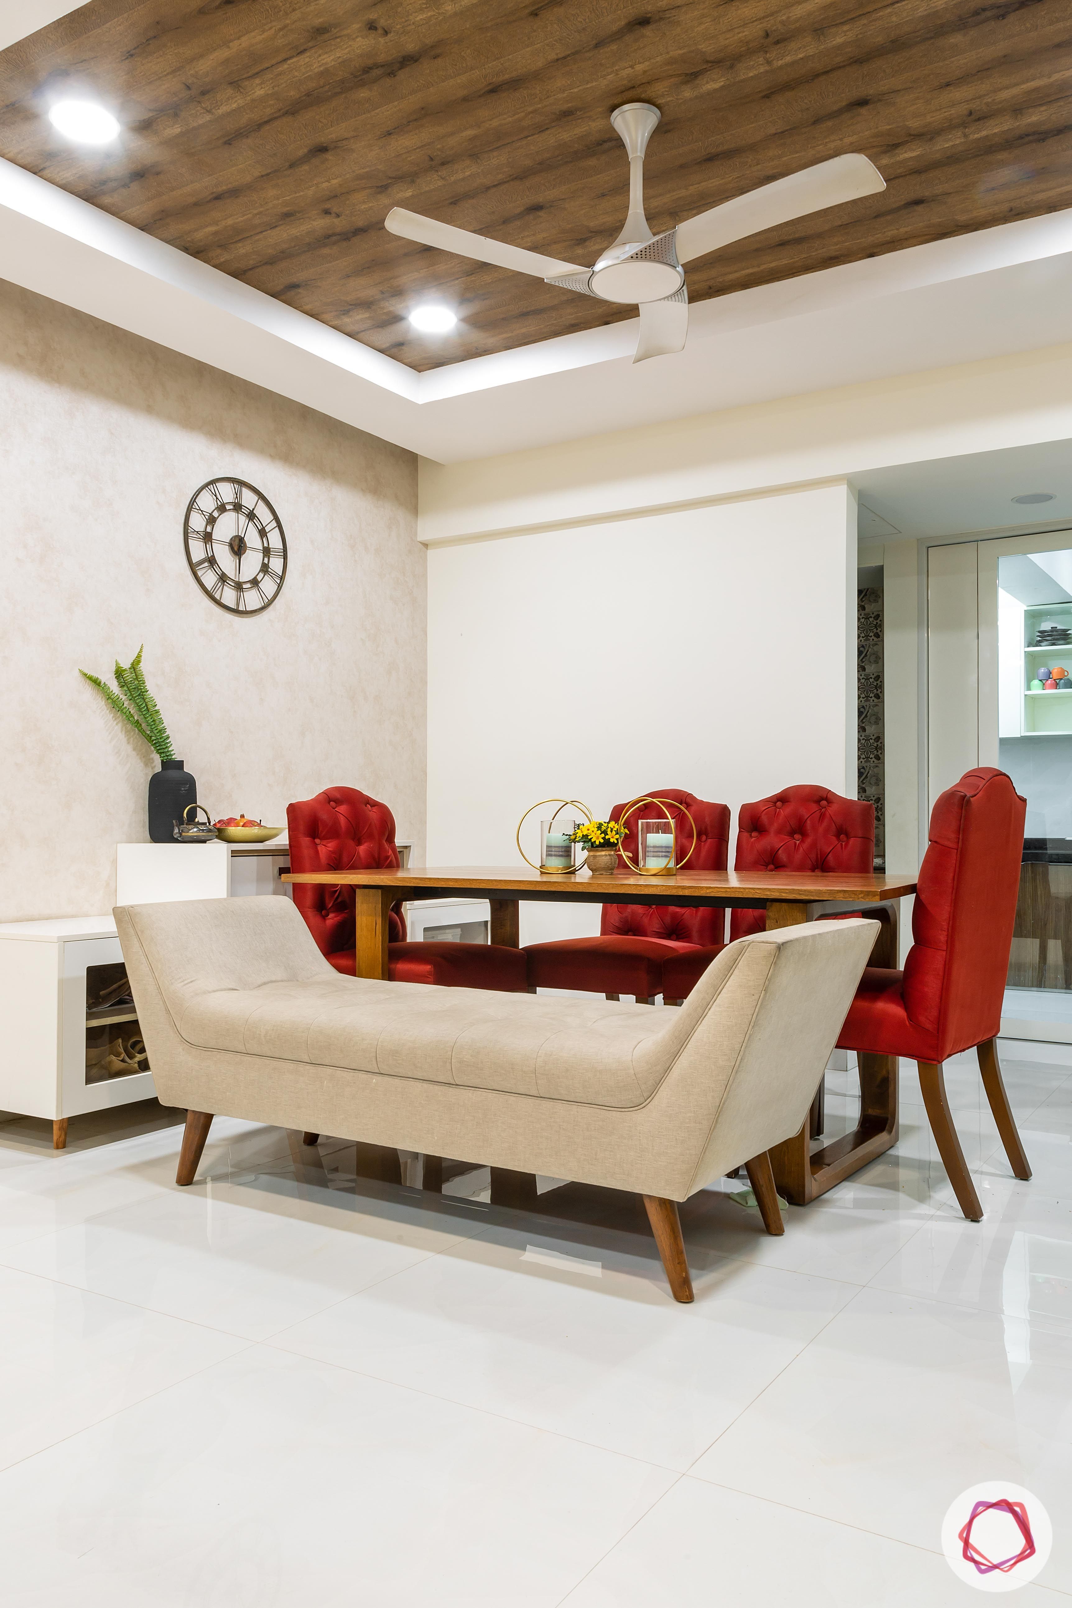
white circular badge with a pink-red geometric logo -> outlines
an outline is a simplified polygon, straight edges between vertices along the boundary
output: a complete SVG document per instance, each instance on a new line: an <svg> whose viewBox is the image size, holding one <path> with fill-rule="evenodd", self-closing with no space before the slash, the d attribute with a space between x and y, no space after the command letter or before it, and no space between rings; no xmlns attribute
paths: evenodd
<svg viewBox="0 0 1072 1608"><path fill-rule="evenodd" d="M963 1491L942 1523L942 1552L953 1574L979 1592L1014 1592L1049 1558L1053 1524L1030 1491L987 1479Z"/></svg>

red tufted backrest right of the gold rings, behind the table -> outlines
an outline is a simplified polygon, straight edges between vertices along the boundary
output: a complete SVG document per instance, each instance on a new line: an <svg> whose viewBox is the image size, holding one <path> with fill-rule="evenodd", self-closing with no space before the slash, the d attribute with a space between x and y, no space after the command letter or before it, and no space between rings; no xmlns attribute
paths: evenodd
<svg viewBox="0 0 1072 1608"><path fill-rule="evenodd" d="M874 804L844 799L812 783L743 804L733 867L738 872L871 872ZM733 910L730 937L762 933L765 925L762 910Z"/></svg>

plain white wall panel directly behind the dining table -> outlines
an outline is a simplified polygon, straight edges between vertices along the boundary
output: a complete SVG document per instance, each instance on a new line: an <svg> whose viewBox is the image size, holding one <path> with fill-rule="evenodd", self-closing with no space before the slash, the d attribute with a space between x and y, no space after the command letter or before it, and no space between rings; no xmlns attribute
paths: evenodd
<svg viewBox="0 0 1072 1608"><path fill-rule="evenodd" d="M431 865L514 865L518 818L548 794L604 814L680 786L734 827L741 802L792 781L855 796L845 484L428 563ZM522 942L588 931L598 907L522 907Z"/></svg>

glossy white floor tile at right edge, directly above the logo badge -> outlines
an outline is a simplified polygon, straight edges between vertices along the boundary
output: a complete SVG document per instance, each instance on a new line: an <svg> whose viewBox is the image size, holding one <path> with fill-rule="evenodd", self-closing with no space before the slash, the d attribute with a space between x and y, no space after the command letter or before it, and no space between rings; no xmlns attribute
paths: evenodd
<svg viewBox="0 0 1072 1608"><path fill-rule="evenodd" d="M1027 1339L1027 1343L1025 1343ZM1072 1507L1072 1338L977 1307L861 1290L693 1475L916 1547L1008 1476ZM1040 1576L1072 1592L1072 1537Z"/></svg>

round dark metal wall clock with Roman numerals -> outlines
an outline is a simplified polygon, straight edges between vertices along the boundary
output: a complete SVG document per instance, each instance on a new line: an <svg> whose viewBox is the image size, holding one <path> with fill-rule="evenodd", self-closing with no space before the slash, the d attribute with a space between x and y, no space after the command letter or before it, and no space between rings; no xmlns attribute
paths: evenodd
<svg viewBox="0 0 1072 1608"><path fill-rule="evenodd" d="M280 516L256 486L231 476L206 481L183 523L186 563L198 585L228 614L264 614L286 580Z"/></svg>

